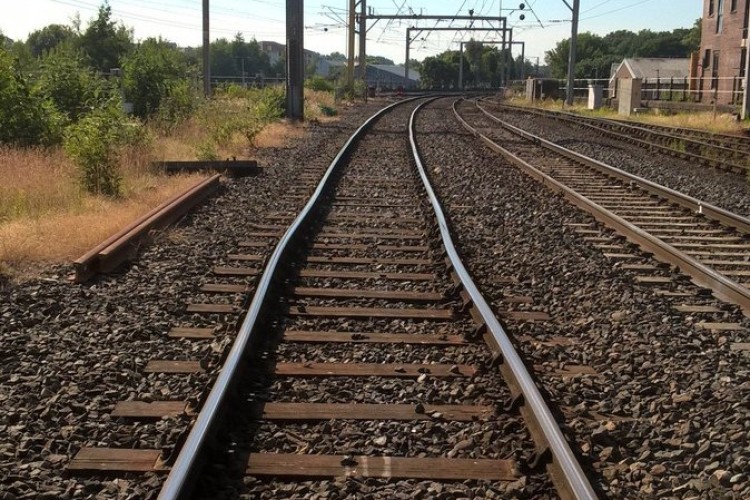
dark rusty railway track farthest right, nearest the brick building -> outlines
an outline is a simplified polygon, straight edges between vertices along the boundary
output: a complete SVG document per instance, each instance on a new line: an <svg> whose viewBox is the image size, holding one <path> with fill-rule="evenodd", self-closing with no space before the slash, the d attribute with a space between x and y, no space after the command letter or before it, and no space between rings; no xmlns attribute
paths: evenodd
<svg viewBox="0 0 750 500"><path fill-rule="evenodd" d="M734 173L745 174L750 166L748 165L750 157L750 138L748 137L585 117L564 111L512 106L494 99L483 100L481 106L488 110L531 113L550 118L650 150Z"/></svg>

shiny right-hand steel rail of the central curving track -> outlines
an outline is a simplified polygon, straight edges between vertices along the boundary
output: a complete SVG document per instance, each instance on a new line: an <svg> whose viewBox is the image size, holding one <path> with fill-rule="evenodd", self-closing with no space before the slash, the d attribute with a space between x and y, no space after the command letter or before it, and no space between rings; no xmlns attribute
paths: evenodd
<svg viewBox="0 0 750 500"><path fill-rule="evenodd" d="M541 432L545 445L549 447L553 456L554 465L556 465L562 472L559 477L553 475L553 480L558 480L558 484L556 484L558 487L558 493L560 493L563 498L598 498L594 492L594 488L584 474L580 463L570 449L570 445L565 439L565 436L563 436L555 417L552 415L552 412L544 401L544 397L534 383L534 379L526 369L526 366L518 355L515 347L513 347L513 343L510 341L505 329L503 329L502 325L495 317L492 308L487 304L487 301L474 284L474 281L471 279L469 272L466 270L466 267L464 267L461 258L456 251L448 227L448 222L443 213L440 201L438 200L435 191L432 189L430 180L427 177L427 172L422 163L422 158L419 154L419 148L416 142L415 118L417 112L428 102L431 101L420 104L411 115L409 120L409 141L412 146L414 162L417 165L425 191L427 192L427 196L432 204L432 209L435 212L435 218L438 222L440 235L443 239L443 245L445 246L447 256L450 259L456 275L461 280L461 284L471 297L474 307L476 307L477 311L482 316L482 320L487 326L487 331L497 343L504 360L503 365L508 369L506 373L509 372L511 374L513 383L516 384L523 394L525 407L528 408L529 414L534 420L534 424L536 424L536 427Z"/></svg>

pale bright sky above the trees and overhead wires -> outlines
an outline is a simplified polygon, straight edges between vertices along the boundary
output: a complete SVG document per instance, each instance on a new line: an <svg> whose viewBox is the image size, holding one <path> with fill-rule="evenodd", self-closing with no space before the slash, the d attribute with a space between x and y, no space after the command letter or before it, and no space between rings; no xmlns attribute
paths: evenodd
<svg viewBox="0 0 750 500"><path fill-rule="evenodd" d="M136 40L166 38L181 46L201 44L202 0L109 0L113 17L133 28ZM571 10L566 0L526 0L524 11L518 0L368 0L375 14L425 14L500 16L513 28L513 40L523 41L525 55L532 63L563 39L570 37ZM29 33L48 24L70 24L80 16L85 28L96 15L101 0L0 0L0 31L14 40L25 40ZM567 0L572 5L573 0ZM210 0L211 38L233 38L238 32L246 40L284 42L284 0ZM304 2L305 48L322 54L346 53L347 0ZM675 6L679 5L679 8ZM604 35L626 29L671 31L689 28L701 17L703 0L580 0L579 33ZM502 13L502 14L501 14ZM525 20L521 20L521 15ZM368 23L367 53L401 63L405 58L406 29L461 27L464 21L385 21ZM490 27L475 22L475 27ZM497 27L498 24L493 26ZM422 38L424 37L424 40ZM448 49L459 48L469 40L466 31L424 31L411 44L412 59L422 60ZM478 32L475 38L500 40L499 33ZM355 49L356 50L356 49ZM521 46L514 47L514 55Z"/></svg>

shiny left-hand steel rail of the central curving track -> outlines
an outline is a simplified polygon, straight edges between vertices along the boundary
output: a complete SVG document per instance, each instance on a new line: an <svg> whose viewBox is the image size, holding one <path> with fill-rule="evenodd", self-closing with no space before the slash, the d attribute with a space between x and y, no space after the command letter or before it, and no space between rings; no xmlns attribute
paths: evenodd
<svg viewBox="0 0 750 500"><path fill-rule="evenodd" d="M354 144L377 119L388 113L391 109L416 99L419 99L419 97L405 99L386 106L372 115L354 132L354 134L352 134L351 137L349 137L347 142L326 169L325 174L310 197L310 200L279 240L273 254L271 254L271 257L268 260L268 264L263 270L247 315L245 316L242 326L237 334L237 338L227 355L224 366L203 404L201 412L193 424L193 427L180 450L177 460L172 466L170 473L159 492L158 498L160 500L177 500L187 494L187 489L190 486L191 480L194 478L192 475L200 466L199 452L207 445L213 426L219 420L222 404L225 403L227 399L229 388L235 378L235 374L239 370L241 361L247 354L246 350L251 339L254 335L259 334L256 325L264 308L267 306L268 291L276 278L280 263L290 251L290 242L296 236L297 231L307 222L313 209L316 208L316 205L322 198L322 193L331 182L335 171L343 163L342 160L351 152Z"/></svg>

